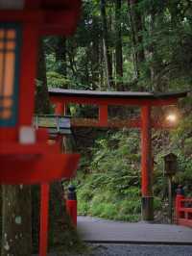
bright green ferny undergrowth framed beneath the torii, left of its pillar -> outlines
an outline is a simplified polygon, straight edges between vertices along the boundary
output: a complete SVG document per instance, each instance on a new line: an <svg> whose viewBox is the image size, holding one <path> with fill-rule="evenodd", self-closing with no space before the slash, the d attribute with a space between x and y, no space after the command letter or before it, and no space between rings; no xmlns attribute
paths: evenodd
<svg viewBox="0 0 192 256"><path fill-rule="evenodd" d="M79 177L79 214L136 221L140 218L138 134L108 133L96 141L90 173Z"/></svg>

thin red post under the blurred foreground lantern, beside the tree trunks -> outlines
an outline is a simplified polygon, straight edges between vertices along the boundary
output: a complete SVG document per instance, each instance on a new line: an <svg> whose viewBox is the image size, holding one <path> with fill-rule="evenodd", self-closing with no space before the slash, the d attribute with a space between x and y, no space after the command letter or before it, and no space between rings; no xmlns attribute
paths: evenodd
<svg viewBox="0 0 192 256"><path fill-rule="evenodd" d="M49 184L41 184L40 192L40 233L39 256L47 255L48 214L49 214Z"/></svg>

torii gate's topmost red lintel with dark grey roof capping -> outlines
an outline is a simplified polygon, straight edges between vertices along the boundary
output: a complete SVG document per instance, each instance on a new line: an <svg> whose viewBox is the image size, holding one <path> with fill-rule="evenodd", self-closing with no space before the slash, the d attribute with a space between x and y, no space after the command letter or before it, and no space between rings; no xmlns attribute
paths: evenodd
<svg viewBox="0 0 192 256"><path fill-rule="evenodd" d="M49 89L52 103L80 103L96 105L165 106L176 104L187 92L136 92Z"/></svg>

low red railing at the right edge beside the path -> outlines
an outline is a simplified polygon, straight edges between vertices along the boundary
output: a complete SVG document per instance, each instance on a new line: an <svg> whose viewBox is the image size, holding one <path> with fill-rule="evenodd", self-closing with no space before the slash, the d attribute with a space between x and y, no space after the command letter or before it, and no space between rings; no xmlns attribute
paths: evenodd
<svg viewBox="0 0 192 256"><path fill-rule="evenodd" d="M192 198L185 198L182 194L176 196L176 223L192 227Z"/></svg>

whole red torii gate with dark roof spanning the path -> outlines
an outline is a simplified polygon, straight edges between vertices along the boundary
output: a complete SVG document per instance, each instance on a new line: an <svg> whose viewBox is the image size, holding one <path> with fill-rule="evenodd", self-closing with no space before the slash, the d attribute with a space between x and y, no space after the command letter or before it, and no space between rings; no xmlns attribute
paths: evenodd
<svg viewBox="0 0 192 256"><path fill-rule="evenodd" d="M176 105L179 98L187 92L153 93L131 91L93 91L50 89L49 96L56 105L55 114L64 115L67 104L97 105L98 119L71 118L72 126L93 127L132 127L141 129L141 192L142 217L144 220L154 218L152 192L152 128L171 128L169 123L156 123L152 120L151 111L156 106ZM108 120L108 106L137 106L141 115L132 120Z"/></svg>

